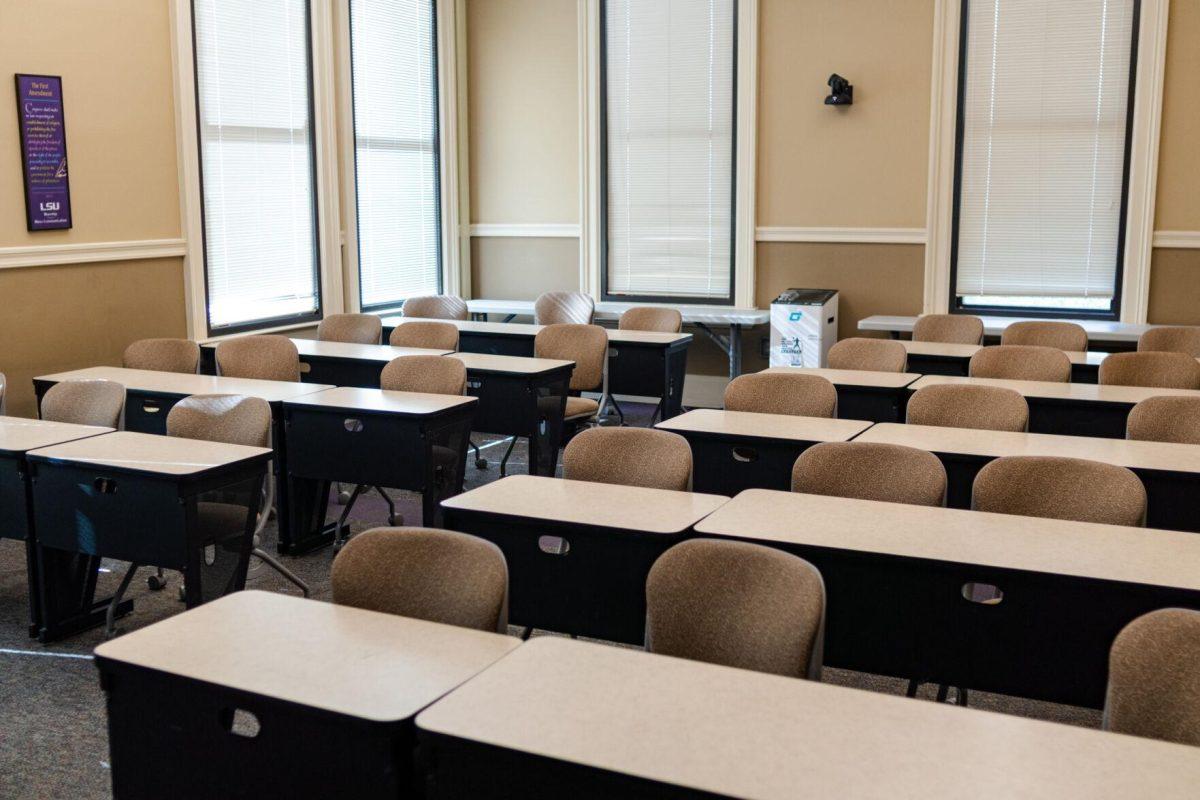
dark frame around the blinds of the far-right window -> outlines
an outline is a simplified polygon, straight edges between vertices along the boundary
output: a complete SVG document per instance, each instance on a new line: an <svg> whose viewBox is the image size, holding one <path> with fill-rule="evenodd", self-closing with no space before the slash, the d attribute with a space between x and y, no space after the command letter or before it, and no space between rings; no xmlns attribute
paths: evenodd
<svg viewBox="0 0 1200 800"><path fill-rule="evenodd" d="M955 1L955 0L952 0ZM1044 308L1037 306L971 306L962 302L958 290L959 266L959 209L962 199L962 133L966 124L966 68L967 46L970 42L968 24L971 0L956 0L959 4L959 42L958 70L954 113L954 175L950 200L950 241L949 241L949 308L952 314L971 314L977 317L1026 317L1033 319L1097 319L1120 320L1123 301L1126 272L1126 234L1129 223L1129 185L1133 163L1133 138L1135 121L1135 96L1138 88L1139 38L1142 23L1142 2L1133 0L1133 30L1130 34L1129 80L1126 97L1126 134L1124 160L1121 172L1121 211L1117 228L1116 273L1112 278L1112 301L1108 311L1087 311L1078 308Z"/></svg>

